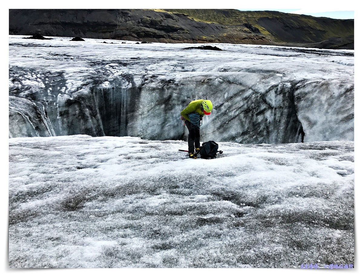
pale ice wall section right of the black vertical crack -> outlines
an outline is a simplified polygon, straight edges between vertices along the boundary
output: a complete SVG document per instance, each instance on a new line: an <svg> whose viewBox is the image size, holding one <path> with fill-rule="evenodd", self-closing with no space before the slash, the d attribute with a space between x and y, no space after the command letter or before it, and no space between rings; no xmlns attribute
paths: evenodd
<svg viewBox="0 0 363 277"><path fill-rule="evenodd" d="M354 140L354 85L307 81L296 86L294 95L307 141Z"/></svg>

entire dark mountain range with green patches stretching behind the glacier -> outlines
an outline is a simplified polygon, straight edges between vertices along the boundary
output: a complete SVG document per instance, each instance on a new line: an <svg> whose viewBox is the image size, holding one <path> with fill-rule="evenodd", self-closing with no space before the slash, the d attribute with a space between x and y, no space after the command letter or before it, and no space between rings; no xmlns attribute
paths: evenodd
<svg viewBox="0 0 363 277"><path fill-rule="evenodd" d="M234 9L9 10L9 35L36 34L162 43L354 48L354 20L282 12Z"/></svg>

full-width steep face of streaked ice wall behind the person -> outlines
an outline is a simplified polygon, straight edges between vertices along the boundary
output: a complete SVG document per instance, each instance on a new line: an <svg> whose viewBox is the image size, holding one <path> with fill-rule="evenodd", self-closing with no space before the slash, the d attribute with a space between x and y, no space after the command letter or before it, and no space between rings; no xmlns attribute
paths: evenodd
<svg viewBox="0 0 363 277"><path fill-rule="evenodd" d="M204 141L289 143L353 140L352 88L327 83L259 83L251 73L195 76L137 87L118 79L36 104L10 96L9 136L136 136L185 139L179 120L189 101L207 95L215 103L201 127ZM197 93L196 93L197 92ZM319 115L319 116L317 116Z"/></svg>

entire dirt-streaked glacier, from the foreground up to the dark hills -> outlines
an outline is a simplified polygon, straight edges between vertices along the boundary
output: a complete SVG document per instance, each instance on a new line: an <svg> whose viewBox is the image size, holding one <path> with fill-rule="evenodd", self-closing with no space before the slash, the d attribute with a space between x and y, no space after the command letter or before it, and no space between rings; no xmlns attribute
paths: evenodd
<svg viewBox="0 0 363 277"><path fill-rule="evenodd" d="M70 39L9 36L11 268L354 264L354 51Z"/></svg>

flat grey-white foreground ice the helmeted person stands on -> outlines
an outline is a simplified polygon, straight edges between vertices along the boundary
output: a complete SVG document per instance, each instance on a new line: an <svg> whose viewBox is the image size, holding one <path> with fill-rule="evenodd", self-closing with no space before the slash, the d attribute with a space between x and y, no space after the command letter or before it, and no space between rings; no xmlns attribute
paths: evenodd
<svg viewBox="0 0 363 277"><path fill-rule="evenodd" d="M354 142L9 139L12 268L354 264Z"/></svg>

